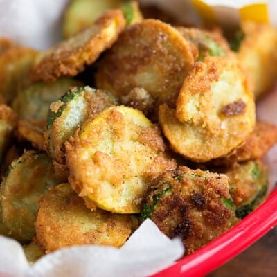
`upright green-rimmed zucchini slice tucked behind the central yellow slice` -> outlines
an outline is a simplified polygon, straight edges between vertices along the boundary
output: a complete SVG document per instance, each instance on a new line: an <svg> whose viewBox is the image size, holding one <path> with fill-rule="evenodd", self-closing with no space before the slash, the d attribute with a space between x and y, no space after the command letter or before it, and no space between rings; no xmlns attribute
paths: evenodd
<svg viewBox="0 0 277 277"><path fill-rule="evenodd" d="M53 102L44 135L45 148L52 159L65 163L64 142L73 136L89 114L96 116L103 109L115 105L118 105L118 100L111 93L88 86L71 89Z"/></svg>

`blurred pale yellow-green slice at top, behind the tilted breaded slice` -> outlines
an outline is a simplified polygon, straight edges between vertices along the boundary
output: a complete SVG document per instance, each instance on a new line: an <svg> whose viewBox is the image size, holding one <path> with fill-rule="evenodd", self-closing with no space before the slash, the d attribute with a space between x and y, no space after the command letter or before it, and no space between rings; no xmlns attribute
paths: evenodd
<svg viewBox="0 0 277 277"><path fill-rule="evenodd" d="M64 11L62 35L72 37L81 30L91 26L93 22L110 9L119 8L123 0L73 0Z"/></svg>

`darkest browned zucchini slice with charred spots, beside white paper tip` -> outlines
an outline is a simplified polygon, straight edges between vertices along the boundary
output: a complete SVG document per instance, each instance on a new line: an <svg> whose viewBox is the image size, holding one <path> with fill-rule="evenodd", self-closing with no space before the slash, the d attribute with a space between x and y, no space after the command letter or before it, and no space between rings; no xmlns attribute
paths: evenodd
<svg viewBox="0 0 277 277"><path fill-rule="evenodd" d="M228 177L180 166L152 180L141 213L170 238L179 236L186 254L231 228L235 219Z"/></svg>

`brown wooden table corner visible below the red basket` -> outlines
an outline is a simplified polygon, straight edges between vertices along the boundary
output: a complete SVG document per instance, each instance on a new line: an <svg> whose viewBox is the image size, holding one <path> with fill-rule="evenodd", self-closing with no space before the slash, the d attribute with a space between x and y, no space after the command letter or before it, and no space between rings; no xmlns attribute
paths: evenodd
<svg viewBox="0 0 277 277"><path fill-rule="evenodd" d="M207 277L277 277L277 226Z"/></svg>

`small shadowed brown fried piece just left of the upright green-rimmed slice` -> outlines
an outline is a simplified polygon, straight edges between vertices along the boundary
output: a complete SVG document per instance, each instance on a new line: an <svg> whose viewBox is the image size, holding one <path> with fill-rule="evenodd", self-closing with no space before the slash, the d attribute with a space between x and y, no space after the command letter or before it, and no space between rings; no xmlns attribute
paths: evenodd
<svg viewBox="0 0 277 277"><path fill-rule="evenodd" d="M44 120L19 120L17 138L19 141L29 141L37 150L44 150Z"/></svg>

